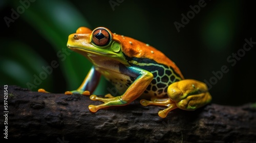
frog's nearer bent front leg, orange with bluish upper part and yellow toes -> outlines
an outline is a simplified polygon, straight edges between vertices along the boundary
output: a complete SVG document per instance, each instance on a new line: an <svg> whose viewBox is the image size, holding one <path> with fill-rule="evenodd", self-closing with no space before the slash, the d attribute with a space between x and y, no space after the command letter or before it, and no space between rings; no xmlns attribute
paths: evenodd
<svg viewBox="0 0 256 143"><path fill-rule="evenodd" d="M101 105L89 105L89 110L92 112L96 112L97 110L109 106L124 106L138 97L144 92L146 87L151 83L153 80L153 74L150 72L143 70L137 67L122 67L122 74L125 74L130 77L137 77L136 80L130 85L127 90L118 97L106 96L109 98L99 98L95 95L90 96L91 100L94 101L101 101L104 104Z"/></svg>

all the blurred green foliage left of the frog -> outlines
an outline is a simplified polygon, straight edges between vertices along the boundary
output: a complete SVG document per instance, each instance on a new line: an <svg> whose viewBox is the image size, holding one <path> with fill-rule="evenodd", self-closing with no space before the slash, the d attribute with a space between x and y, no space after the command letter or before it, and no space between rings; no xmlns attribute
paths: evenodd
<svg viewBox="0 0 256 143"><path fill-rule="evenodd" d="M35 49L44 48L40 47L40 43L37 43L39 44L37 47L30 47L19 38L15 39L17 42L10 39L1 39L2 43L7 44L6 47L9 47L1 56L3 58L1 65L3 65L4 69L1 74L7 75L1 81L1 84L16 84L34 91L38 88L56 91L54 86L60 88L62 92L76 89L83 79L81 77L86 75L86 71L91 68L92 64L80 55L67 52L67 38L69 34L74 33L80 26L90 28L88 21L69 1L23 2L14 1L6 4L13 7L17 13L13 14L14 17L23 18L27 25L51 45L52 52L56 53L58 58L57 65L60 66L63 78L66 80L65 89L62 89L63 87L61 88L61 86L56 86L58 83L54 84L55 78L52 75L54 67L51 66L51 62L56 60L52 59L52 61L47 62L44 59L49 54L49 51L43 51L39 55ZM11 16L9 17L12 18ZM17 20L20 20L18 18ZM14 27L14 23L10 22L8 24L10 27ZM33 40L33 35L26 36L28 36L26 38Z"/></svg>

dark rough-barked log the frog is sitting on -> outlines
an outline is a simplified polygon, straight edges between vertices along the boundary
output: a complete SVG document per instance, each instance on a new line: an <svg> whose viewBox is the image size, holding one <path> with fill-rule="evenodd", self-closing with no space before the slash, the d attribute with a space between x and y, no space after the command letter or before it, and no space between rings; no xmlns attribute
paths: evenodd
<svg viewBox="0 0 256 143"><path fill-rule="evenodd" d="M1 86L0 93L4 93ZM8 141L26 142L255 142L256 108L209 104L196 111L141 106L139 100L122 107L88 110L89 97L39 93L8 87ZM4 97L0 102L4 103ZM1 112L4 111L4 105ZM2 133L1 139L4 139ZM6 141L6 140L5 140Z"/></svg>

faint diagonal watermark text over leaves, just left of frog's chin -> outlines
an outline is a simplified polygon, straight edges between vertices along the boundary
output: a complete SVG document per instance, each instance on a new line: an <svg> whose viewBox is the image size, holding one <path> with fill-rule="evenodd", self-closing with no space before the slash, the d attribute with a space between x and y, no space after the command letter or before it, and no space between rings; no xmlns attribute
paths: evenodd
<svg viewBox="0 0 256 143"><path fill-rule="evenodd" d="M73 52L72 50L66 48L62 48L61 51L57 52L57 57L61 58L61 61L63 62L66 60L67 56L70 55L70 53ZM32 90L33 88L37 88L43 80L47 79L48 75L52 74L52 71L54 68L57 68L59 66L59 63L56 60L51 61L51 66L42 66L42 71L39 73L39 75L34 74L34 80L33 83L27 82L27 87Z"/></svg>

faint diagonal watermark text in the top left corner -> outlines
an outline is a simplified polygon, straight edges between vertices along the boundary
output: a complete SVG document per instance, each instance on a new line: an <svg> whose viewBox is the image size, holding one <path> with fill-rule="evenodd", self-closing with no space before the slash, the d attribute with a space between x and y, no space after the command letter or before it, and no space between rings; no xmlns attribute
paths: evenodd
<svg viewBox="0 0 256 143"><path fill-rule="evenodd" d="M4 20L7 25L7 27L10 27L11 22L15 22L19 18L20 14L23 14L26 9L28 9L31 6L31 3L34 3L36 0L20 0L19 3L20 5L14 10L13 8L11 9L11 15L10 17L5 16Z"/></svg>

